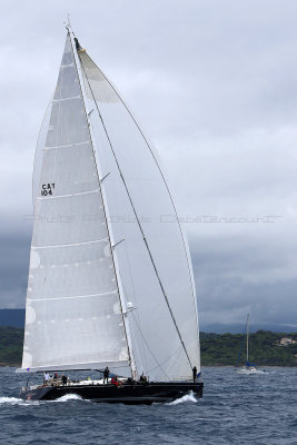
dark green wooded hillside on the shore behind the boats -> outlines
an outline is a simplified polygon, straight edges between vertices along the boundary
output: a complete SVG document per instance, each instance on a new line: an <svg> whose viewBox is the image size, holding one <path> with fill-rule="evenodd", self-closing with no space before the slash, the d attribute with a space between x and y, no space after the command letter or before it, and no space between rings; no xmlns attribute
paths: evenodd
<svg viewBox="0 0 297 445"><path fill-rule="evenodd" d="M281 338L291 338L295 344L280 346ZM23 329L0 326L0 365L19 366L22 355ZM242 343L241 334L200 333L201 365L235 365ZM258 330L250 335L250 363L259 366L297 366L297 333L271 333ZM246 348L240 364L245 363Z"/></svg>

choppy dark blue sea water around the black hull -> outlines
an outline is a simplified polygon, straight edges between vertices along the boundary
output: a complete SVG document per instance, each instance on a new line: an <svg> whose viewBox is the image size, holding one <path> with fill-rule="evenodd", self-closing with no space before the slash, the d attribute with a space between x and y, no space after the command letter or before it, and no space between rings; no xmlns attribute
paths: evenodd
<svg viewBox="0 0 297 445"><path fill-rule="evenodd" d="M95 404L76 395L23 402L26 376L0 368L0 443L6 444L297 444L297 368L238 375L202 369L204 398L169 404Z"/></svg>

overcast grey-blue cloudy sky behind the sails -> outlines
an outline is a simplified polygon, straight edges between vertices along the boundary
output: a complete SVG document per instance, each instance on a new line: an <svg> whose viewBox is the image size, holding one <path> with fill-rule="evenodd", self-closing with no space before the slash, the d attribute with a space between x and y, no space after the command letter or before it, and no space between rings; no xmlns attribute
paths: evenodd
<svg viewBox="0 0 297 445"><path fill-rule="evenodd" d="M34 146L70 13L155 142L201 326L297 327L297 2L1 1L0 307L23 307Z"/></svg>

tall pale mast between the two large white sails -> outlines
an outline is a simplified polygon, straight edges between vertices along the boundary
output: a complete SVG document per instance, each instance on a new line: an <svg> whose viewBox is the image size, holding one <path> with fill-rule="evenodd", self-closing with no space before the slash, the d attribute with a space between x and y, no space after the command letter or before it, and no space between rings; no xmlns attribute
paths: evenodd
<svg viewBox="0 0 297 445"><path fill-rule="evenodd" d="M117 261L117 258L116 258L116 255L115 255L115 247L120 241L116 241L113 239L112 229L111 229L111 226L110 226L110 222L109 222L109 218L108 218L108 205L107 205L105 191L103 191L103 188L102 188L102 181L106 178L106 176L102 175L102 172L100 170L100 164L98 162L98 158L96 156L97 155L97 150L95 149L95 138L93 138L92 130L91 130L91 125L90 125L90 121L89 121L89 116L90 116L91 111L88 112L87 111L87 107L86 107L87 101L86 101L86 92L85 92L85 89L83 89L83 80L82 80L82 77L81 77L81 69L79 69L80 62L79 62L79 58L78 58L78 55L77 55L77 46L76 46L76 42L73 41L75 33L71 30L70 23L68 23L66 28L68 30L68 34L70 37L70 41L71 41L71 46L72 46L73 57L75 57L75 61L76 61L76 68L77 68L78 77L79 77L80 90L81 90L81 95L82 95L82 102L83 102L85 112L86 112L86 117L87 117L87 121L88 121L88 130L89 130L89 135L90 135L91 147L92 147L95 162L96 162L98 182L99 182L100 194L101 194L102 204L103 204L103 211L105 211L106 221L107 221L108 237L109 237L109 241L110 241L110 253L111 253L111 258L112 258L112 263L113 263L113 267L115 267L115 271L116 271L116 281L117 281L117 288L118 288L118 291L119 291L120 309L121 309L122 323L123 323L123 327L125 327L126 340L127 340L127 346L128 346L131 376L133 378L136 378L137 377L137 368L136 368L136 364L135 364L135 359L133 359L133 353L132 353L132 343L131 343L131 336L130 336L130 329L129 329L129 320L128 320L128 317L127 317L127 308L126 308L126 304L125 304L125 299L123 299L123 290L122 290L122 286L121 286L121 281L120 281L118 261Z"/></svg>

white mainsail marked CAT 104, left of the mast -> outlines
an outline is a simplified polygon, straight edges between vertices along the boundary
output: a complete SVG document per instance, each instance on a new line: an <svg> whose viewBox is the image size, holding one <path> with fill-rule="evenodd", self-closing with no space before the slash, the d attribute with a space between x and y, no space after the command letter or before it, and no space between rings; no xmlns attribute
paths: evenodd
<svg viewBox="0 0 297 445"><path fill-rule="evenodd" d="M68 34L41 131L22 369L130 374L98 171ZM44 128L46 127L46 128ZM44 137L46 135L46 137Z"/></svg>

